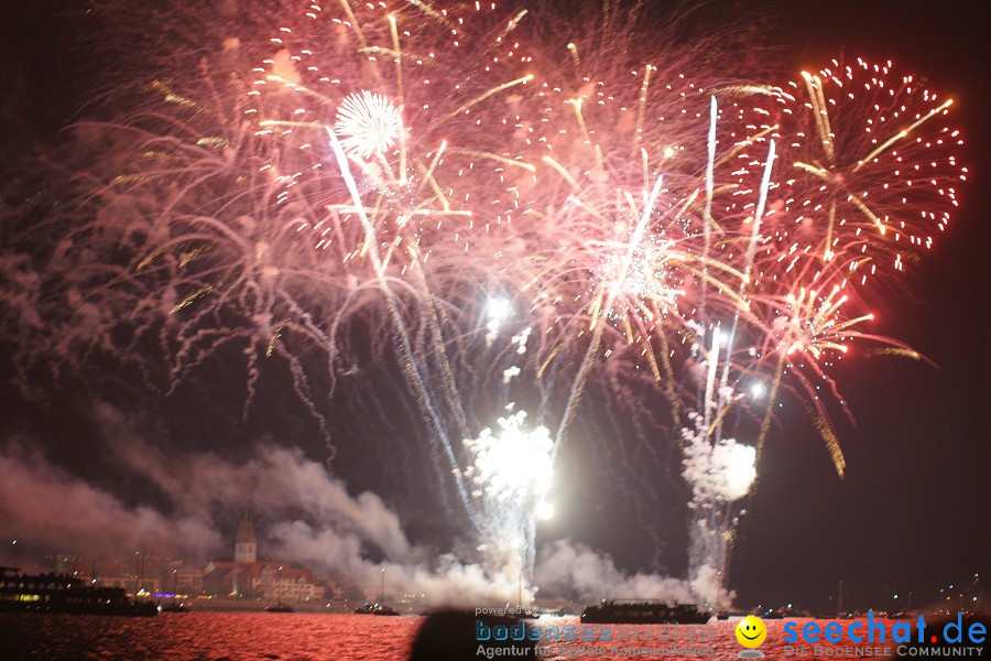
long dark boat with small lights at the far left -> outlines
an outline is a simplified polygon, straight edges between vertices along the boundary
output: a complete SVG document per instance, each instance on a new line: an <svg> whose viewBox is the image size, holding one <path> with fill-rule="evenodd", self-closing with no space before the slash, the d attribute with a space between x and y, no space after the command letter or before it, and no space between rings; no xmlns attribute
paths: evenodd
<svg viewBox="0 0 991 661"><path fill-rule="evenodd" d="M151 617L159 607L132 600L122 587L96 587L64 574L0 567L0 613L65 613Z"/></svg>

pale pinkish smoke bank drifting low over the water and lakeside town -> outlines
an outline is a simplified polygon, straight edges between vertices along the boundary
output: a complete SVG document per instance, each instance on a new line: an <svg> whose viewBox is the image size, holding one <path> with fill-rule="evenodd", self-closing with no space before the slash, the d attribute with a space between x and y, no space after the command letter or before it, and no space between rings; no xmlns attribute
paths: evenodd
<svg viewBox="0 0 991 661"><path fill-rule="evenodd" d="M349 494L326 465L298 448L260 442L247 459L213 452L166 454L142 440L148 421L99 404L108 468L124 469L153 485L167 502L130 503L56 466L28 438L0 447L0 534L33 548L99 557L170 542L171 551L205 560L230 555L231 521L250 510L263 555L296 562L377 594L383 578L390 594L422 595L428 605L475 606L563 597L662 598L693 603L712 577L693 583L655 574L624 574L608 555L558 540L536 557L534 586L519 577L465 562L410 542L400 517L378 495Z"/></svg>

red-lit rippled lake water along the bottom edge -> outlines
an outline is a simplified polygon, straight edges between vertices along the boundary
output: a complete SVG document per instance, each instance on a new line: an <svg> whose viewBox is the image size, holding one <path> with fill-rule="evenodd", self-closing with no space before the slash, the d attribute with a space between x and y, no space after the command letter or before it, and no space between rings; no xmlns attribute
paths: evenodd
<svg viewBox="0 0 991 661"><path fill-rule="evenodd" d="M928 618L927 618L928 619ZM70 615L0 615L0 659L177 659L196 661L400 661L406 659L421 617L366 615L204 613L162 614L153 618ZM806 620L797 620L798 627ZM576 617L543 617L541 627L577 625ZM849 624L849 622L843 622ZM769 659L785 659L784 621L766 621L766 642L760 648ZM612 640L542 643L557 648L546 661L565 659L619 660L632 657L630 648L657 651L653 658L672 658L671 646L691 646L675 658L737 659L742 650L736 640L734 621L677 629L677 643L668 640ZM636 627L612 626L617 633L632 636ZM657 628L653 628L657 631ZM688 635L703 640L685 640ZM674 635L672 635L672 638ZM850 646L851 643L846 643ZM889 646L896 648L896 644ZM581 646L584 646L582 649ZM840 646L825 644L819 658L843 658ZM826 649L831 653L827 652ZM614 652L614 653L613 653ZM852 653L851 653L852 655ZM483 659L484 657L471 657ZM513 657L496 657L507 659ZM519 658L519 657L515 657ZM642 657L641 657L642 658ZM795 657L788 657L795 658ZM808 655L805 658L816 658ZM849 658L849 657L846 657ZM868 655L867 658L883 658Z"/></svg>

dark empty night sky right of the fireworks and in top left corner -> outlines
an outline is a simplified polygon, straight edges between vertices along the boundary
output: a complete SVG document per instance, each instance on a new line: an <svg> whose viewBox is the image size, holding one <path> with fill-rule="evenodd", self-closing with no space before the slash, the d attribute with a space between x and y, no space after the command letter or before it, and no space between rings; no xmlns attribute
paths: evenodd
<svg viewBox="0 0 991 661"><path fill-rule="evenodd" d="M715 4L719 4L715 2ZM981 2L743 2L783 29L794 47L782 68L848 56L891 56L954 97L972 181L962 209L904 281L879 301L882 335L905 340L938 367L853 357L840 370L857 425L838 421L848 463L837 479L821 441L799 420L772 434L761 481L740 529L731 583L740 603L823 605L840 578L848 597L881 603L883 585L921 598L939 583L991 575L985 508L989 305L987 247L988 50ZM52 19L56 2L6 3L8 130L53 138L84 98L90 66L66 44L83 19ZM740 6L738 3L738 6ZM72 56L70 56L72 53ZM8 166L11 163L8 163Z"/></svg>

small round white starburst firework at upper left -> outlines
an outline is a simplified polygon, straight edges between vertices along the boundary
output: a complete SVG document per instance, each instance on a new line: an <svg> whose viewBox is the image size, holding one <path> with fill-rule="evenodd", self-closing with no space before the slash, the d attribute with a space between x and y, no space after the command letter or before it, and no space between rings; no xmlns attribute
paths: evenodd
<svg viewBox="0 0 991 661"><path fill-rule="evenodd" d="M403 119L395 105L367 89L349 94L337 108L334 131L345 151L362 159L385 152L402 130Z"/></svg>

